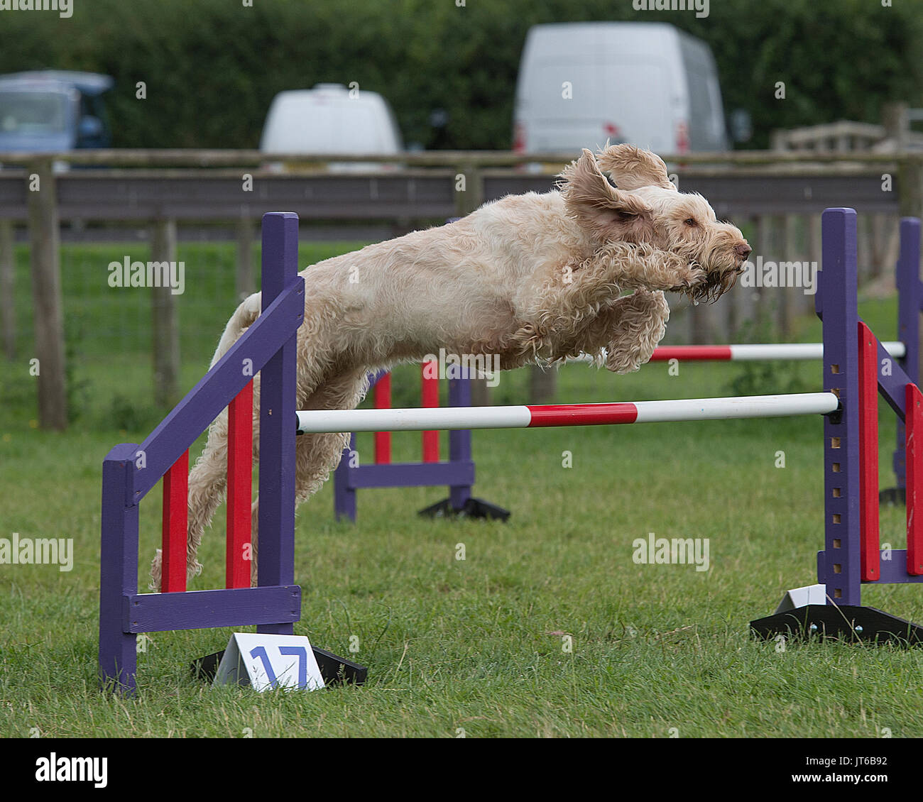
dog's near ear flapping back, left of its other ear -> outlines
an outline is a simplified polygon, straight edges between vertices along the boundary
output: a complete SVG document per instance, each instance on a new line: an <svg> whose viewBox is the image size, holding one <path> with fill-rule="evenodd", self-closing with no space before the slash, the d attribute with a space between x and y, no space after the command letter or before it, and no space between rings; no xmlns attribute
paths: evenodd
<svg viewBox="0 0 923 802"><path fill-rule="evenodd" d="M612 186L593 153L583 155L561 173L561 195L568 213L600 239L642 242L653 233L652 210L641 198Z"/></svg>

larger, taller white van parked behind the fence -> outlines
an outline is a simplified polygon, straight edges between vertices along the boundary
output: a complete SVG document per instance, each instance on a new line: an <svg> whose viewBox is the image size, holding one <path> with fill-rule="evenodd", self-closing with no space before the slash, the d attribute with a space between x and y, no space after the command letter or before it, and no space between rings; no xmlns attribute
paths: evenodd
<svg viewBox="0 0 923 802"><path fill-rule="evenodd" d="M630 142L654 152L726 150L709 46L663 22L536 25L522 50L513 150Z"/></svg>

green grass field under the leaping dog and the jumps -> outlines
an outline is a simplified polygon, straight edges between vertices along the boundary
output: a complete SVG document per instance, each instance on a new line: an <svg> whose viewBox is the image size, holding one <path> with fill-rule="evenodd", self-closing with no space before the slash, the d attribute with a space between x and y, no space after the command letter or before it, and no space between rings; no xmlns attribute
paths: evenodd
<svg viewBox="0 0 923 802"><path fill-rule="evenodd" d="M302 263L331 252L308 247ZM66 264L104 270L123 253L67 249ZM28 273L18 256L25 321ZM233 307L233 251L190 246L186 259L181 315L186 304L196 310L182 318L189 387ZM196 280L194 263L210 266L209 284ZM816 641L781 651L749 638L751 618L815 581L817 418L476 432L476 495L512 510L507 523L421 520L414 510L445 491L414 488L360 493L357 524L338 524L326 485L297 517L304 595L295 632L366 664L365 687L258 695L204 686L188 663L223 648L230 630L199 630L152 635L138 655L138 698L103 696L100 466L115 443L140 441L162 411L146 401L143 337L87 330L90 321L109 325L106 316L129 303L90 289L87 276L65 277L66 317L83 325L72 360L80 416L65 435L34 428L28 338L20 360L0 364L0 537L66 537L75 546L69 572L0 566L0 736L923 736L923 652ZM146 314L143 299L130 303L136 317ZM893 299L864 303L861 313L893 339ZM805 320L801 339L818 336L817 322ZM810 363L701 364L668 377L665 364L653 364L613 377L573 365L560 374L559 400L811 390L819 373ZM410 401L412 374L399 372L395 386L406 395L396 402ZM523 401L525 383L522 372L504 376L495 400ZM882 408L882 485L893 478L893 431ZM562 467L564 452L572 467ZM419 436L395 436L396 459L418 454ZM142 505L142 586L158 498ZM903 547L903 519L903 509L882 509L882 540ZM191 589L221 586L221 532L218 523L208 534L206 568ZM708 538L709 569L635 564L632 542L648 533ZM863 601L923 619L918 588L871 589Z"/></svg>

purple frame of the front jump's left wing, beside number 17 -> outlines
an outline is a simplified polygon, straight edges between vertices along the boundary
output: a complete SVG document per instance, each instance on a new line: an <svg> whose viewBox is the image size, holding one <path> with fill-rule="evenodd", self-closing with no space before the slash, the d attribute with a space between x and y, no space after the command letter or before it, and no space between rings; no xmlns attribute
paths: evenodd
<svg viewBox="0 0 923 802"><path fill-rule="evenodd" d="M291 634L301 617L294 584L295 336L305 315L298 275L298 216L263 217L262 311L228 353L143 443L115 446L102 463L100 650L102 686L136 690L138 634L257 626ZM248 369L244 368L244 365ZM138 505L222 410L261 372L258 586L138 593ZM273 466L270 469L269 466ZM315 650L326 679L365 669ZM213 656L213 655L212 655Z"/></svg>

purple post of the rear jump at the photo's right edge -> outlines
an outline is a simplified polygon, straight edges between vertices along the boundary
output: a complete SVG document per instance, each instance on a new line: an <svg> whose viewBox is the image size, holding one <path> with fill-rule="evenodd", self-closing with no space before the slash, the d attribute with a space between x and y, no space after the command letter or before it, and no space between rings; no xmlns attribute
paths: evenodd
<svg viewBox="0 0 923 802"><path fill-rule="evenodd" d="M906 348L905 355L898 359L907 377L919 386L919 329L920 312L923 311L923 285L920 284L920 221L916 217L901 219L901 252L895 269L897 284L897 339ZM882 497L890 500L903 499L906 487L905 425L897 420L897 447L893 458L894 474L897 477L896 493L882 491Z"/></svg>

